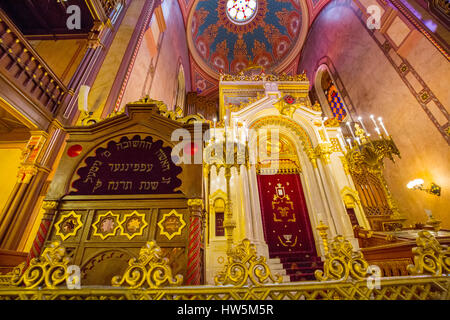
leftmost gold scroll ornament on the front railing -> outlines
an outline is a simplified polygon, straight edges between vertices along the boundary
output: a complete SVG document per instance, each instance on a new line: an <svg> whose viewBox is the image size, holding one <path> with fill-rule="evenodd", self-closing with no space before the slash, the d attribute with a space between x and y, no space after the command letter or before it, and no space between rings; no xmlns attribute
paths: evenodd
<svg viewBox="0 0 450 320"><path fill-rule="evenodd" d="M11 284L25 286L26 289L37 287L56 289L58 285L67 281L69 262L66 248L61 245L61 242L54 241L45 248L39 258L33 258L30 261L26 270L24 270L25 263L16 267L13 270Z"/></svg>

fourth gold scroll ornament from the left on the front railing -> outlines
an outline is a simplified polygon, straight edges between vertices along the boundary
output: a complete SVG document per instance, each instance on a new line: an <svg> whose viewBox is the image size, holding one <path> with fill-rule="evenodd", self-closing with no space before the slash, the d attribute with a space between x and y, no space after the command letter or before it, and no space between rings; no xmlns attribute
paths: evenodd
<svg viewBox="0 0 450 320"><path fill-rule="evenodd" d="M341 235L336 236L330 243L325 258L324 271L316 270L314 273L319 281L347 281L349 278L363 280L368 276L369 264L363 254L353 251L351 243Z"/></svg>

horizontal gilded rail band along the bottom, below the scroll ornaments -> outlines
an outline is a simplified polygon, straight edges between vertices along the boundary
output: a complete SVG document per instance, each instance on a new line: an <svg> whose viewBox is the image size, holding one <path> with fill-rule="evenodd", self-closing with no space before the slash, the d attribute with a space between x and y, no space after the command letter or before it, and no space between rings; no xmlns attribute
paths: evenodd
<svg viewBox="0 0 450 320"><path fill-rule="evenodd" d="M366 281L296 282L258 287L128 289L0 288L0 300L449 300L449 277L392 277L369 289Z"/></svg>

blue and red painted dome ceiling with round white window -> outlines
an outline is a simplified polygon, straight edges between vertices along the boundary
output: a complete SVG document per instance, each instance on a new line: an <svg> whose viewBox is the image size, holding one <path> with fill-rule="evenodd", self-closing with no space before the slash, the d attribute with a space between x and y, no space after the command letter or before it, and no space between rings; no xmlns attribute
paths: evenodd
<svg viewBox="0 0 450 320"><path fill-rule="evenodd" d="M191 53L215 78L250 65L280 72L301 49L304 10L300 0L198 0L189 19Z"/></svg>

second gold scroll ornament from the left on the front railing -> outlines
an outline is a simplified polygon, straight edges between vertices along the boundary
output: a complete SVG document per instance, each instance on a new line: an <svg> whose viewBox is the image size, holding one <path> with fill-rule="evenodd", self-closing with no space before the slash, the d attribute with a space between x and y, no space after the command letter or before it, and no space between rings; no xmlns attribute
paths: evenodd
<svg viewBox="0 0 450 320"><path fill-rule="evenodd" d="M183 282L182 275L172 276L169 260L161 257L161 248L155 241L149 241L139 252L139 258L132 258L123 276L112 278L112 285L129 286L130 289L149 287L151 289L166 286L179 286Z"/></svg>

